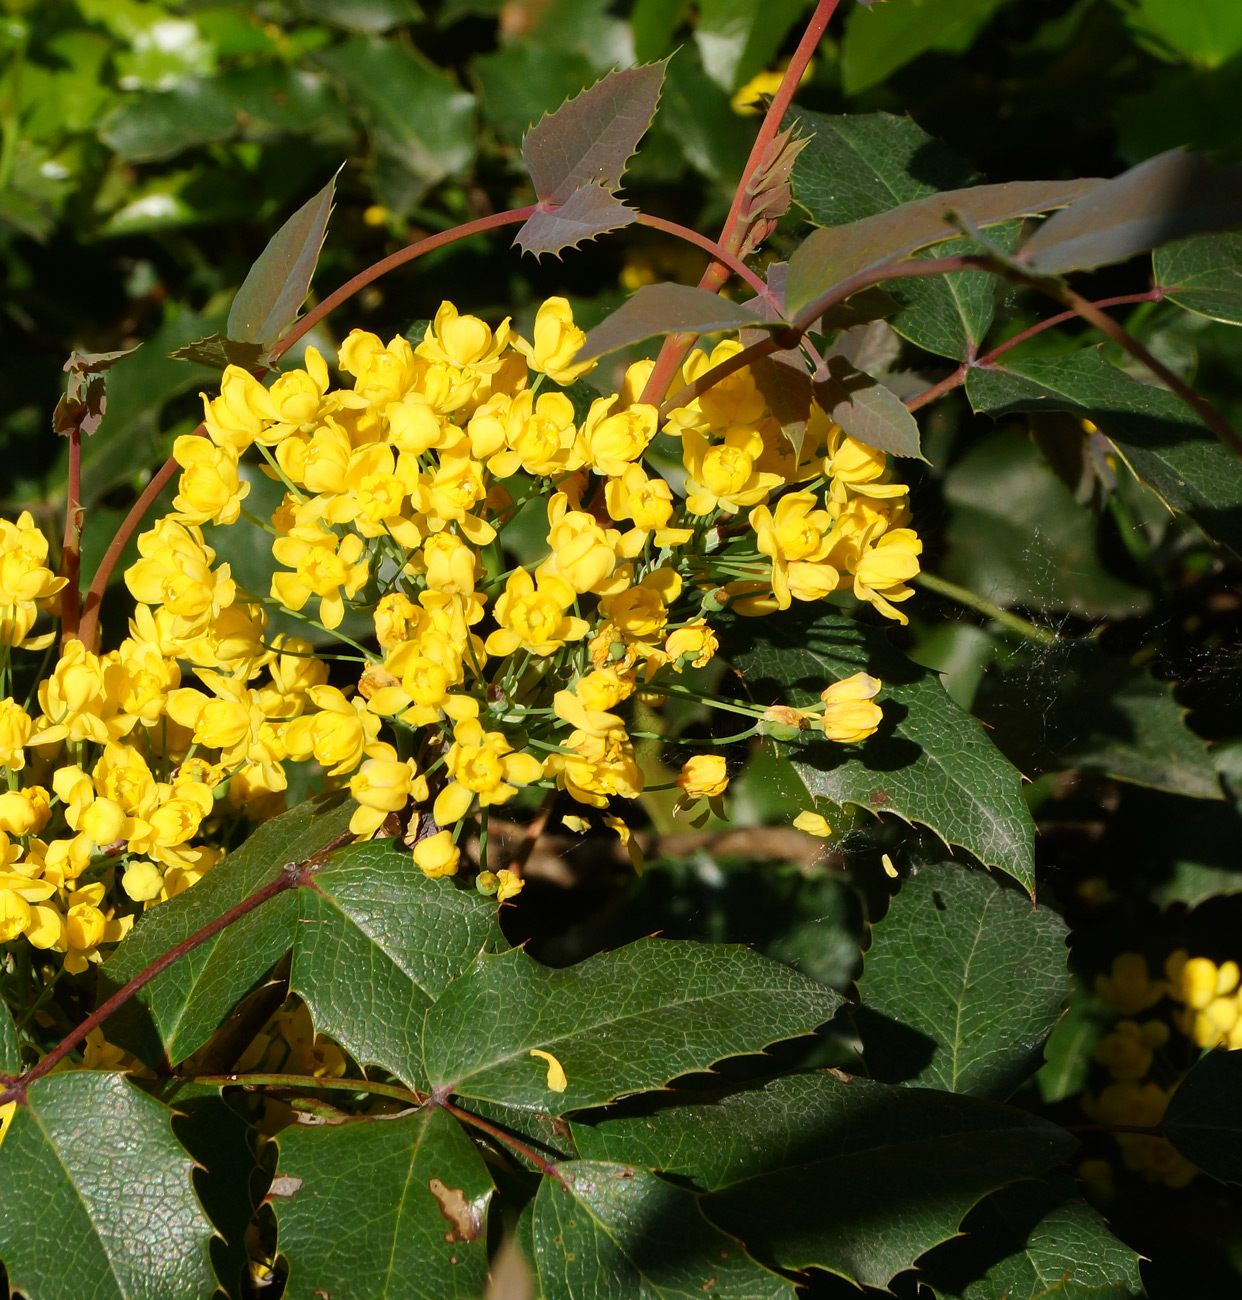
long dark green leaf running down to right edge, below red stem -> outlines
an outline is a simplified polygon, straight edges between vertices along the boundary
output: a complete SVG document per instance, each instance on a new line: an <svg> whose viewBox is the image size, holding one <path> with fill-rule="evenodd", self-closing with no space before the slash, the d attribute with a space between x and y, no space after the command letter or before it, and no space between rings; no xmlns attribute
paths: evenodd
<svg viewBox="0 0 1242 1300"><path fill-rule="evenodd" d="M1242 464L1165 389L1141 384L1095 348L971 369L966 395L994 419L1069 411L1090 420L1130 469L1217 541L1242 552Z"/></svg>

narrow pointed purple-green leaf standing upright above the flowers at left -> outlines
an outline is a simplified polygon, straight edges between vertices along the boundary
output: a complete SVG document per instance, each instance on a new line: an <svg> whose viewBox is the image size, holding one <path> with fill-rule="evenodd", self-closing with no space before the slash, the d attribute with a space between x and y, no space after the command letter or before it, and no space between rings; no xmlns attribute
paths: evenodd
<svg viewBox="0 0 1242 1300"><path fill-rule="evenodd" d="M225 334L243 343L274 343L298 318L328 230L337 178L276 231L250 268L229 308Z"/></svg>

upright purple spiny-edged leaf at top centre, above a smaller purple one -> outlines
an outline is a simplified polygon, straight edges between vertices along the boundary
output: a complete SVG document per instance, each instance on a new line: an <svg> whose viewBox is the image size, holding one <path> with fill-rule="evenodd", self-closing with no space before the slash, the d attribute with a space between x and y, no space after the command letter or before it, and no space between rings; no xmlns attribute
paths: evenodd
<svg viewBox="0 0 1242 1300"><path fill-rule="evenodd" d="M611 72L532 126L522 157L540 203L567 203L584 185L616 190L663 81L662 62Z"/></svg>

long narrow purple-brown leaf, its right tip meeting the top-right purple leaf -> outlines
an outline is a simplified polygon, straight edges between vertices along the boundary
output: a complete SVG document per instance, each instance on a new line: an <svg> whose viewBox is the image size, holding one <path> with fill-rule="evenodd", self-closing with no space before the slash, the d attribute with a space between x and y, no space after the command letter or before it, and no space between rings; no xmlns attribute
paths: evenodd
<svg viewBox="0 0 1242 1300"><path fill-rule="evenodd" d="M990 226L1063 208L1105 183L1095 178L1012 181L945 190L845 226L815 230L789 259L786 312L797 316L851 276L899 261L927 244L957 238L961 230L948 221L951 213L960 212L978 226Z"/></svg>

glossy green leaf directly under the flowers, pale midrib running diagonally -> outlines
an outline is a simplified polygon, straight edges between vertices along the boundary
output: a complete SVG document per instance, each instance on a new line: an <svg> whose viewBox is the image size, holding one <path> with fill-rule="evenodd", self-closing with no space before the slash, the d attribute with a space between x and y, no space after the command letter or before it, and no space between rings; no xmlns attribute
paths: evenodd
<svg viewBox="0 0 1242 1300"><path fill-rule="evenodd" d="M429 880L393 840L334 854L315 888L298 890L290 941L289 987L315 1028L414 1087L427 1008L480 952L506 946L493 901Z"/></svg>

